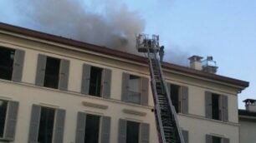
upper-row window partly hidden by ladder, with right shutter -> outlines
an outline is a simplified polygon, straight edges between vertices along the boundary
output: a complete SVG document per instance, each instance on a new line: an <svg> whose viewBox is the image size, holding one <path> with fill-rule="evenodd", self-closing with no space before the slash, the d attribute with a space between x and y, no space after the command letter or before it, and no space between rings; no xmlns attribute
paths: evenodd
<svg viewBox="0 0 256 143"><path fill-rule="evenodd" d="M188 87L167 83L170 91L172 105L177 113L188 113Z"/></svg>

